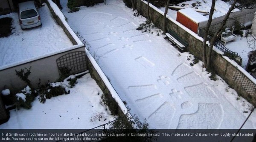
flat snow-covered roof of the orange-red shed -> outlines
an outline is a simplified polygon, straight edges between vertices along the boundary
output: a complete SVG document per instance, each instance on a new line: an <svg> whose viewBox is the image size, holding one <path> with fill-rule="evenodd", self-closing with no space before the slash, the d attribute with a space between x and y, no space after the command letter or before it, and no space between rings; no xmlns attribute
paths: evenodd
<svg viewBox="0 0 256 142"><path fill-rule="evenodd" d="M198 12L193 10L192 8L180 9L178 12L180 12L181 14L183 14L186 17L190 18L192 21L194 21L196 23L200 23L200 22L204 22L204 21L208 20L206 17L204 17L203 15L199 14Z"/></svg>

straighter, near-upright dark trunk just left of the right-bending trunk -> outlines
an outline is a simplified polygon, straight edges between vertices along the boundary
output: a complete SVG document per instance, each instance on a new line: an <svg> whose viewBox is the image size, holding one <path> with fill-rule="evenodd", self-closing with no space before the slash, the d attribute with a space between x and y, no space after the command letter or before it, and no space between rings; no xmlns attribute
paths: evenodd
<svg viewBox="0 0 256 142"><path fill-rule="evenodd" d="M210 14L209 14L209 19L208 19L208 22L207 22L207 28L206 28L206 31L204 33L204 42L203 42L203 62L204 62L204 67L207 66L207 57L206 57L206 47L207 47L207 37L208 37L208 34L209 34L209 29L210 29L210 26L211 26L211 23L212 23L212 15L214 13L214 7L215 7L215 2L216 0L212 0L212 6L211 6L211 9L210 9Z"/></svg>

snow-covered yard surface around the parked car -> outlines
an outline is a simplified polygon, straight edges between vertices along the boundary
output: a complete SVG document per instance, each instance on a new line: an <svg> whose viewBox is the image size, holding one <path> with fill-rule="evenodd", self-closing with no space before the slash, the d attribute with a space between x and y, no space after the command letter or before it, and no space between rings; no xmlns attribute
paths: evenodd
<svg viewBox="0 0 256 142"><path fill-rule="evenodd" d="M12 35L0 38L0 67L73 46L44 5L39 8L42 27L21 30L17 13L0 15L11 17L14 28Z"/></svg>

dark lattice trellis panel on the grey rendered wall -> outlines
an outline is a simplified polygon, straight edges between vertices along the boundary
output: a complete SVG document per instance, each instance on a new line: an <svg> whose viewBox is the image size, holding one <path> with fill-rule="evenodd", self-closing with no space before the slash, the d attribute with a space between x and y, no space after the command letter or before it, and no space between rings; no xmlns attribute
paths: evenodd
<svg viewBox="0 0 256 142"><path fill-rule="evenodd" d="M77 74L87 70L84 51L67 53L56 60L61 77Z"/></svg>

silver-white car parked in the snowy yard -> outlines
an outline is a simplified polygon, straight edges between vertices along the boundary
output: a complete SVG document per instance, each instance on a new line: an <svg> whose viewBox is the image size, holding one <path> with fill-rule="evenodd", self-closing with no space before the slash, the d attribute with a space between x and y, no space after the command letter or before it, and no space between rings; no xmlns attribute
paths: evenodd
<svg viewBox="0 0 256 142"><path fill-rule="evenodd" d="M33 28L42 25L41 17L35 1L19 3L19 21L22 29Z"/></svg>

